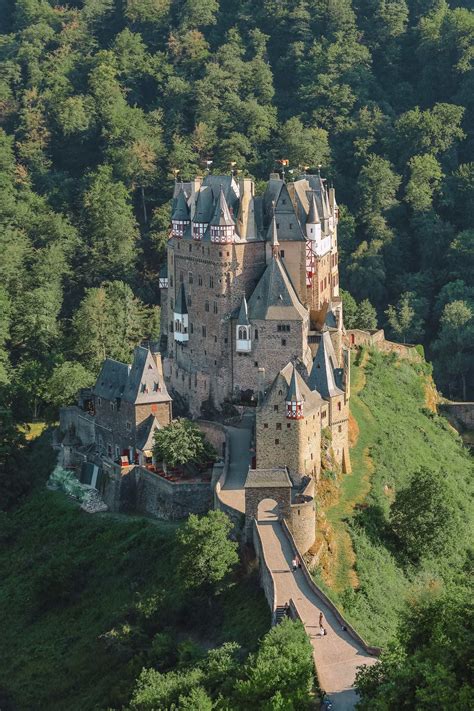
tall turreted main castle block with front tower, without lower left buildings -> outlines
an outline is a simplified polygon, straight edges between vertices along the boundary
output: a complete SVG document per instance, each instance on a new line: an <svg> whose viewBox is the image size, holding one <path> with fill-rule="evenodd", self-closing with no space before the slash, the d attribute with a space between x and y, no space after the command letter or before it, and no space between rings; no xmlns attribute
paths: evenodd
<svg viewBox="0 0 474 711"><path fill-rule="evenodd" d="M253 403L256 465L318 477L321 431L349 468L338 207L318 175L176 184L160 276L163 368L192 415Z"/></svg>

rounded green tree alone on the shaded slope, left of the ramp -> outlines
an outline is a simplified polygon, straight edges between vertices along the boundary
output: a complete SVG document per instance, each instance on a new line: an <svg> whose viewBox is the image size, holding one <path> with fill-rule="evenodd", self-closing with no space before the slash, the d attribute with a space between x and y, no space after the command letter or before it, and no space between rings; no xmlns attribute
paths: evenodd
<svg viewBox="0 0 474 711"><path fill-rule="evenodd" d="M191 514L177 534L180 579L185 588L207 591L209 601L239 560L231 531L228 516L211 510L201 517Z"/></svg>

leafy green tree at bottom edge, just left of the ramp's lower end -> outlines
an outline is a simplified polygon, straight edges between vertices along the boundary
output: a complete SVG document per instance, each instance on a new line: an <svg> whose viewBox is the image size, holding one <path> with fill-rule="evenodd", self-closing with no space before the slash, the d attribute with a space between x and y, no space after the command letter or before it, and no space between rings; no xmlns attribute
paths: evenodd
<svg viewBox="0 0 474 711"><path fill-rule="evenodd" d="M301 622L283 622L265 635L237 681L236 701L242 708L305 708L313 684L313 648Z"/></svg>

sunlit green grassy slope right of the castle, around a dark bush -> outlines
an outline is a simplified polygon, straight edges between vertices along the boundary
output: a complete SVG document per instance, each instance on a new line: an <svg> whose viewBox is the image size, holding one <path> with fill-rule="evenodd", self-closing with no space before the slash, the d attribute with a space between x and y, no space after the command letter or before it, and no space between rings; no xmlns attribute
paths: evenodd
<svg viewBox="0 0 474 711"><path fill-rule="evenodd" d="M359 427L351 452L353 473L344 478L339 501L327 517L339 540L350 535L358 588L349 585L351 555L346 553L338 557L329 592L361 634L376 644L391 638L408 595L433 580L448 579L464 560L466 542L453 542L449 557L427 561L415 571L403 567L390 543L387 521L394 492L420 466L449 477L459 507L468 515L472 460L447 421L426 409L426 373L425 364L380 353L371 353L364 365L353 368L351 412Z"/></svg>

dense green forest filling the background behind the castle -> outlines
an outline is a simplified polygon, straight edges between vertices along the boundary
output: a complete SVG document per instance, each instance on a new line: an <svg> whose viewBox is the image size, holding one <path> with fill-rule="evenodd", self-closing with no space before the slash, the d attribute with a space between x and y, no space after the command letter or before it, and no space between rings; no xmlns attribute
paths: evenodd
<svg viewBox="0 0 474 711"><path fill-rule="evenodd" d="M336 186L346 325L472 397L470 5L0 0L3 412L47 417L158 336L175 178L262 189L282 158Z"/></svg>

